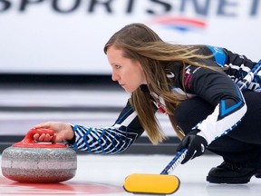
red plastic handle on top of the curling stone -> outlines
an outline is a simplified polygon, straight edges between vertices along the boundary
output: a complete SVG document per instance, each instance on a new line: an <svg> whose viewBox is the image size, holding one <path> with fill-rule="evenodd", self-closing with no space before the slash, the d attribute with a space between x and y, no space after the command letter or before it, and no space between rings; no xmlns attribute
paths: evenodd
<svg viewBox="0 0 261 196"><path fill-rule="evenodd" d="M53 136L53 142L36 142L34 140L34 134L49 134ZM44 128L33 128L25 135L24 139L21 142L14 143L14 147L24 147L24 148L65 148L66 146L63 143L56 143L56 135L54 134L53 130L44 129Z"/></svg>

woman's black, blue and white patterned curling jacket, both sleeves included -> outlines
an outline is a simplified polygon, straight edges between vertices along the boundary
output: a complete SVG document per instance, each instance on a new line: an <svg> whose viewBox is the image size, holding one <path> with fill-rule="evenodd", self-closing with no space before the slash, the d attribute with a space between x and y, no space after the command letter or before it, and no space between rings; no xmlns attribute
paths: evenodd
<svg viewBox="0 0 261 196"><path fill-rule="evenodd" d="M166 77L171 80L171 91L201 97L215 106L214 112L194 127L200 130L198 134L209 144L233 130L247 113L247 104L237 83L243 81L247 73L255 71L256 63L225 48L209 45L197 47L199 54L213 54L212 58L204 60L205 64L221 67L224 72L189 64L184 68L183 65L173 63L173 68ZM260 84L261 72L257 72L253 82L248 85L248 90L260 92ZM74 149L93 153L123 152L144 132L129 101L110 127L72 126L75 136L68 142L69 145Z"/></svg>

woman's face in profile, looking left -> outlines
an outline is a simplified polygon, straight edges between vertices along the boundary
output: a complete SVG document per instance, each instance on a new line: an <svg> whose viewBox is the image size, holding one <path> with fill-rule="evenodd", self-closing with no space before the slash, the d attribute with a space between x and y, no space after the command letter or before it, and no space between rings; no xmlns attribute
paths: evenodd
<svg viewBox="0 0 261 196"><path fill-rule="evenodd" d="M111 78L117 81L126 92L134 92L140 84L146 84L145 73L138 61L123 56L123 51L111 45L107 58L112 68Z"/></svg>

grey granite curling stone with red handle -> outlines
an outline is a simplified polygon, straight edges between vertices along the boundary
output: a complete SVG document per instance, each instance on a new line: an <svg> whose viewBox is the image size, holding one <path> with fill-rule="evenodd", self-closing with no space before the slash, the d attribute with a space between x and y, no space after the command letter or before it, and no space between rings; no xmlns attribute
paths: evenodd
<svg viewBox="0 0 261 196"><path fill-rule="evenodd" d="M35 133L49 133L55 137L53 130L48 129L27 132L23 141L3 151L3 175L13 181L31 183L55 183L72 179L77 170L76 152L63 143L35 142Z"/></svg>

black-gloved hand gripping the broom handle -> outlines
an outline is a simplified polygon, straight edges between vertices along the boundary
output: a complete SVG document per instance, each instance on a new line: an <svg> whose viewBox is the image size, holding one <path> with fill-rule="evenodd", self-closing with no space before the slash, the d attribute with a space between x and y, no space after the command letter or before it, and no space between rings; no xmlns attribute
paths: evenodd
<svg viewBox="0 0 261 196"><path fill-rule="evenodd" d="M197 129L189 132L189 134L186 135L179 143L177 152L181 151L183 148L188 149L188 152L186 153L186 156L181 164L184 164L205 152L208 142L204 137L197 135L198 132L200 131Z"/></svg>

